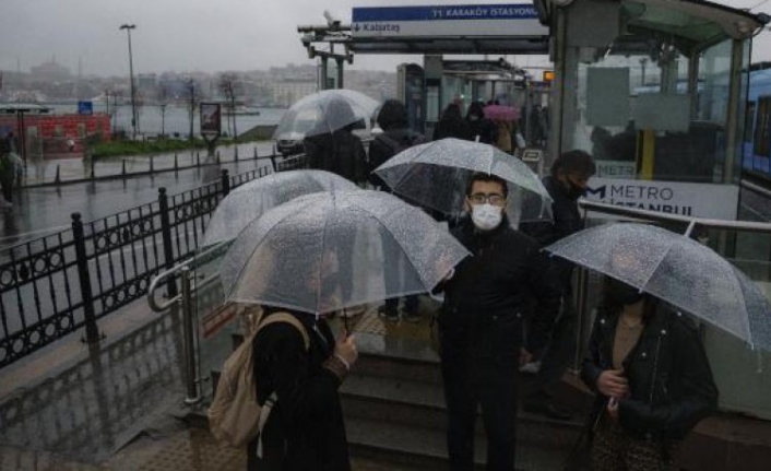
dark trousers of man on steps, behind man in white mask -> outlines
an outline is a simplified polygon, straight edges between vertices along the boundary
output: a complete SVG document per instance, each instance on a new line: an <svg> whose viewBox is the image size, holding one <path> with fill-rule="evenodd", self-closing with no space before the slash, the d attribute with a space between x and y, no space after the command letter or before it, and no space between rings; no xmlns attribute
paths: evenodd
<svg viewBox="0 0 771 471"><path fill-rule="evenodd" d="M576 354L576 309L572 296L562 297L562 309L542 358L541 369L525 392L525 403L548 402Z"/></svg>

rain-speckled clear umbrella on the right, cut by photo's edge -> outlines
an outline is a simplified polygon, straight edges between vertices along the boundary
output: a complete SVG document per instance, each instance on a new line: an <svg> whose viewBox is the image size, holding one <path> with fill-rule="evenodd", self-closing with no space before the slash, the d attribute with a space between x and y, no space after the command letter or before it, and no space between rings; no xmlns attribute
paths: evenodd
<svg viewBox="0 0 771 471"><path fill-rule="evenodd" d="M771 350L771 306L756 284L684 235L643 224L606 224L546 250L650 293L752 346Z"/></svg>

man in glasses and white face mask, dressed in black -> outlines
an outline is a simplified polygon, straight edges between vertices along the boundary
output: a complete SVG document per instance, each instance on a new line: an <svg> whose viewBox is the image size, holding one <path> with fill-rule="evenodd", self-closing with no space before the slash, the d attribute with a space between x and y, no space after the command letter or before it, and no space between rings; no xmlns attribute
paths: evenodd
<svg viewBox="0 0 771 471"><path fill-rule="evenodd" d="M517 370L529 352L545 343L559 309L560 291L550 278L538 243L513 229L506 216L508 186L475 174L452 234L473 254L455 268L439 291L439 349L448 412L450 470L474 469L474 425L481 407L487 435L487 469L514 469ZM527 344L522 319L535 298Z"/></svg>

